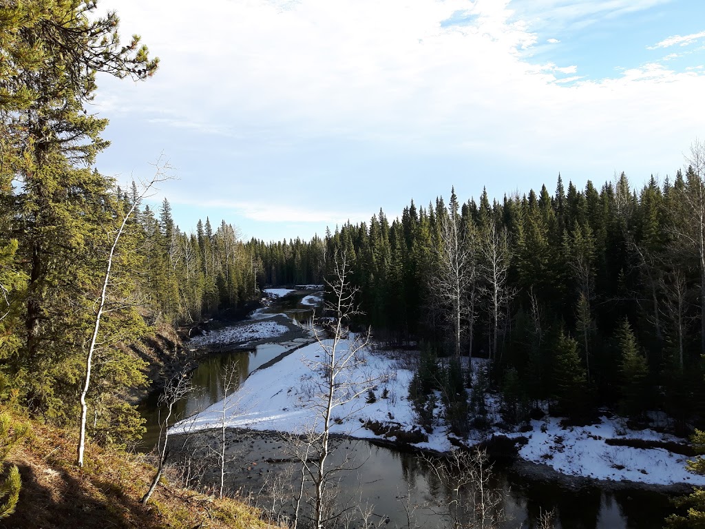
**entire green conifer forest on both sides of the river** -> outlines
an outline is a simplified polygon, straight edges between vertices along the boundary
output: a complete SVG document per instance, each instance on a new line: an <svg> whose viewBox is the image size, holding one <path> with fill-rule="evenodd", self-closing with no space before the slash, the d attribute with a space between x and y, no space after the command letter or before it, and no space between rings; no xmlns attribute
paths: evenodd
<svg viewBox="0 0 705 529"><path fill-rule="evenodd" d="M90 107L99 79L149 83L159 60L95 7L0 0L0 518L31 480L11 455L36 442L30 430L80 431L80 467L84 439L97 447L89 461L134 448L159 337L188 343L183 329L241 320L265 288L326 284L335 301L342 258L359 306L350 329L420 358L408 388L419 425L443 390L455 434L482 427L465 392L481 383L474 358L506 422L542 406L570 424L609 411L638 428L661 414L702 448L705 142L684 145L663 178L546 175L503 197L476 178L477 200L439 189L310 240L245 239L212 217L178 226L168 199L150 200L178 186L166 160L128 186L96 164L111 148L110 116ZM673 527L701 526L687 525L705 506L698 494Z"/></svg>

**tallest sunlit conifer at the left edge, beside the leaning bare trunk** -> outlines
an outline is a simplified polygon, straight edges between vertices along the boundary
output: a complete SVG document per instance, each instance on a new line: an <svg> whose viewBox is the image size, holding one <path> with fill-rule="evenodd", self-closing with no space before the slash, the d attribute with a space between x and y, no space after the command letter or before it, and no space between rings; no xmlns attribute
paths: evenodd
<svg viewBox="0 0 705 529"><path fill-rule="evenodd" d="M118 40L115 13L94 16L92 2L47 0L0 6L0 116L8 143L0 166L21 185L2 195L11 207L27 291L20 355L10 369L26 403L66 418L90 327L87 308L111 223L112 183L92 171L108 142L107 121L85 112L98 71L135 79L151 75L138 37ZM5 170L5 169L4 169Z"/></svg>

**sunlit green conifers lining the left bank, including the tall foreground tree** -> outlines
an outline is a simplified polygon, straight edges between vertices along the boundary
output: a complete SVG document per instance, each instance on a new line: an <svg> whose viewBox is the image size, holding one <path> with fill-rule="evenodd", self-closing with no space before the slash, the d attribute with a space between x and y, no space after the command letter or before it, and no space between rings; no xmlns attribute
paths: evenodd
<svg viewBox="0 0 705 529"><path fill-rule="evenodd" d="M96 10L0 4L0 401L76 425L88 358L89 435L126 445L142 431L128 397L149 382L145 336L236 314L266 281L320 281L323 243L245 242L209 219L186 233L168 200L142 203L146 182L123 189L96 169L99 75L147 80L159 65Z"/></svg>

